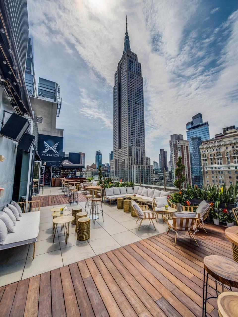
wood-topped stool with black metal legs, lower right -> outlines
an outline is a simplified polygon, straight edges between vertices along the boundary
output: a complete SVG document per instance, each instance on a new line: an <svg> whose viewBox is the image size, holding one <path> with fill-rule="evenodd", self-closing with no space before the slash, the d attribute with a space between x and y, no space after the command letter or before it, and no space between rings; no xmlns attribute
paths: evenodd
<svg viewBox="0 0 238 317"><path fill-rule="evenodd" d="M228 259L225 256L205 256L203 259L204 271L203 271L203 309L202 317L207 316L207 301L210 298L217 298L218 291L217 285L222 286L222 292L225 290L231 291L232 287L238 288L238 263ZM206 276L205 273L207 272ZM208 285L208 275L215 279L215 288ZM206 281L205 281L206 277ZM208 295L208 287L212 288L216 292L216 296ZM230 292L228 292L230 293Z"/></svg>

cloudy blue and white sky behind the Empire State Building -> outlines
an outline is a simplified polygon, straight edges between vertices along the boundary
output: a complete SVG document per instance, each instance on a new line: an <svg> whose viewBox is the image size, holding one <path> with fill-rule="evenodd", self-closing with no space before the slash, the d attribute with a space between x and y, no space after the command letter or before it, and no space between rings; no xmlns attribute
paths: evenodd
<svg viewBox="0 0 238 317"><path fill-rule="evenodd" d="M236 0L28 0L38 77L61 86L57 127L64 150L86 164L113 150L113 86L125 16L130 47L142 64L146 155L158 161L170 134L202 113L210 136L238 125Z"/></svg>

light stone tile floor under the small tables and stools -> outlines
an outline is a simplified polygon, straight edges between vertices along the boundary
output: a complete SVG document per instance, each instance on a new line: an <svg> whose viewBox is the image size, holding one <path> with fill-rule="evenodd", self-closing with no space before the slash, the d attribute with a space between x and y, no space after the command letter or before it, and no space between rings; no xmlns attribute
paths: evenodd
<svg viewBox="0 0 238 317"><path fill-rule="evenodd" d="M58 187L44 186L44 196L57 194L62 194ZM76 205L80 205L84 211L85 202L65 206L71 211ZM32 244L0 251L0 287L154 236L167 229L162 225L162 217L159 215L155 224L156 231L149 220L144 220L138 230L139 224L130 213L117 209L116 204L111 203L109 206L104 203L104 221L102 214L95 224L91 221L88 240L77 240L75 225L70 224L68 243L65 244L64 232L60 227L57 228L53 243L52 212L49 211L52 207L56 206L40 208L40 228L34 260Z"/></svg>

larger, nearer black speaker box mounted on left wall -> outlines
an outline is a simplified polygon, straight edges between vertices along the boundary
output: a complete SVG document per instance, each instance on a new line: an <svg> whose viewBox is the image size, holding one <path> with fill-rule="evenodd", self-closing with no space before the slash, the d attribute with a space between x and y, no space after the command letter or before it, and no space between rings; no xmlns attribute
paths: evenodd
<svg viewBox="0 0 238 317"><path fill-rule="evenodd" d="M0 134L13 141L20 142L23 134L26 132L29 126L30 123L26 118L21 117L16 113L12 113L0 131Z"/></svg>

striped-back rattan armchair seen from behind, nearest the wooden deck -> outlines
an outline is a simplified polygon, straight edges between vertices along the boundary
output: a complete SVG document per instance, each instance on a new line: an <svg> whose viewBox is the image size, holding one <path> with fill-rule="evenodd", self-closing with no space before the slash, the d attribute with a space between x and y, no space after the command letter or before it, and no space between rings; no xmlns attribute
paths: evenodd
<svg viewBox="0 0 238 317"><path fill-rule="evenodd" d="M185 231L188 232L189 236L194 239L196 244L198 245L193 232L197 229L198 223L199 223L199 218L188 218L188 217L173 217L171 219L165 217L164 215L162 216L164 222L167 223L169 230L172 229L175 231L175 242L174 244L176 245L176 238L179 235L178 231ZM167 231L166 235L168 235L169 230Z"/></svg>

